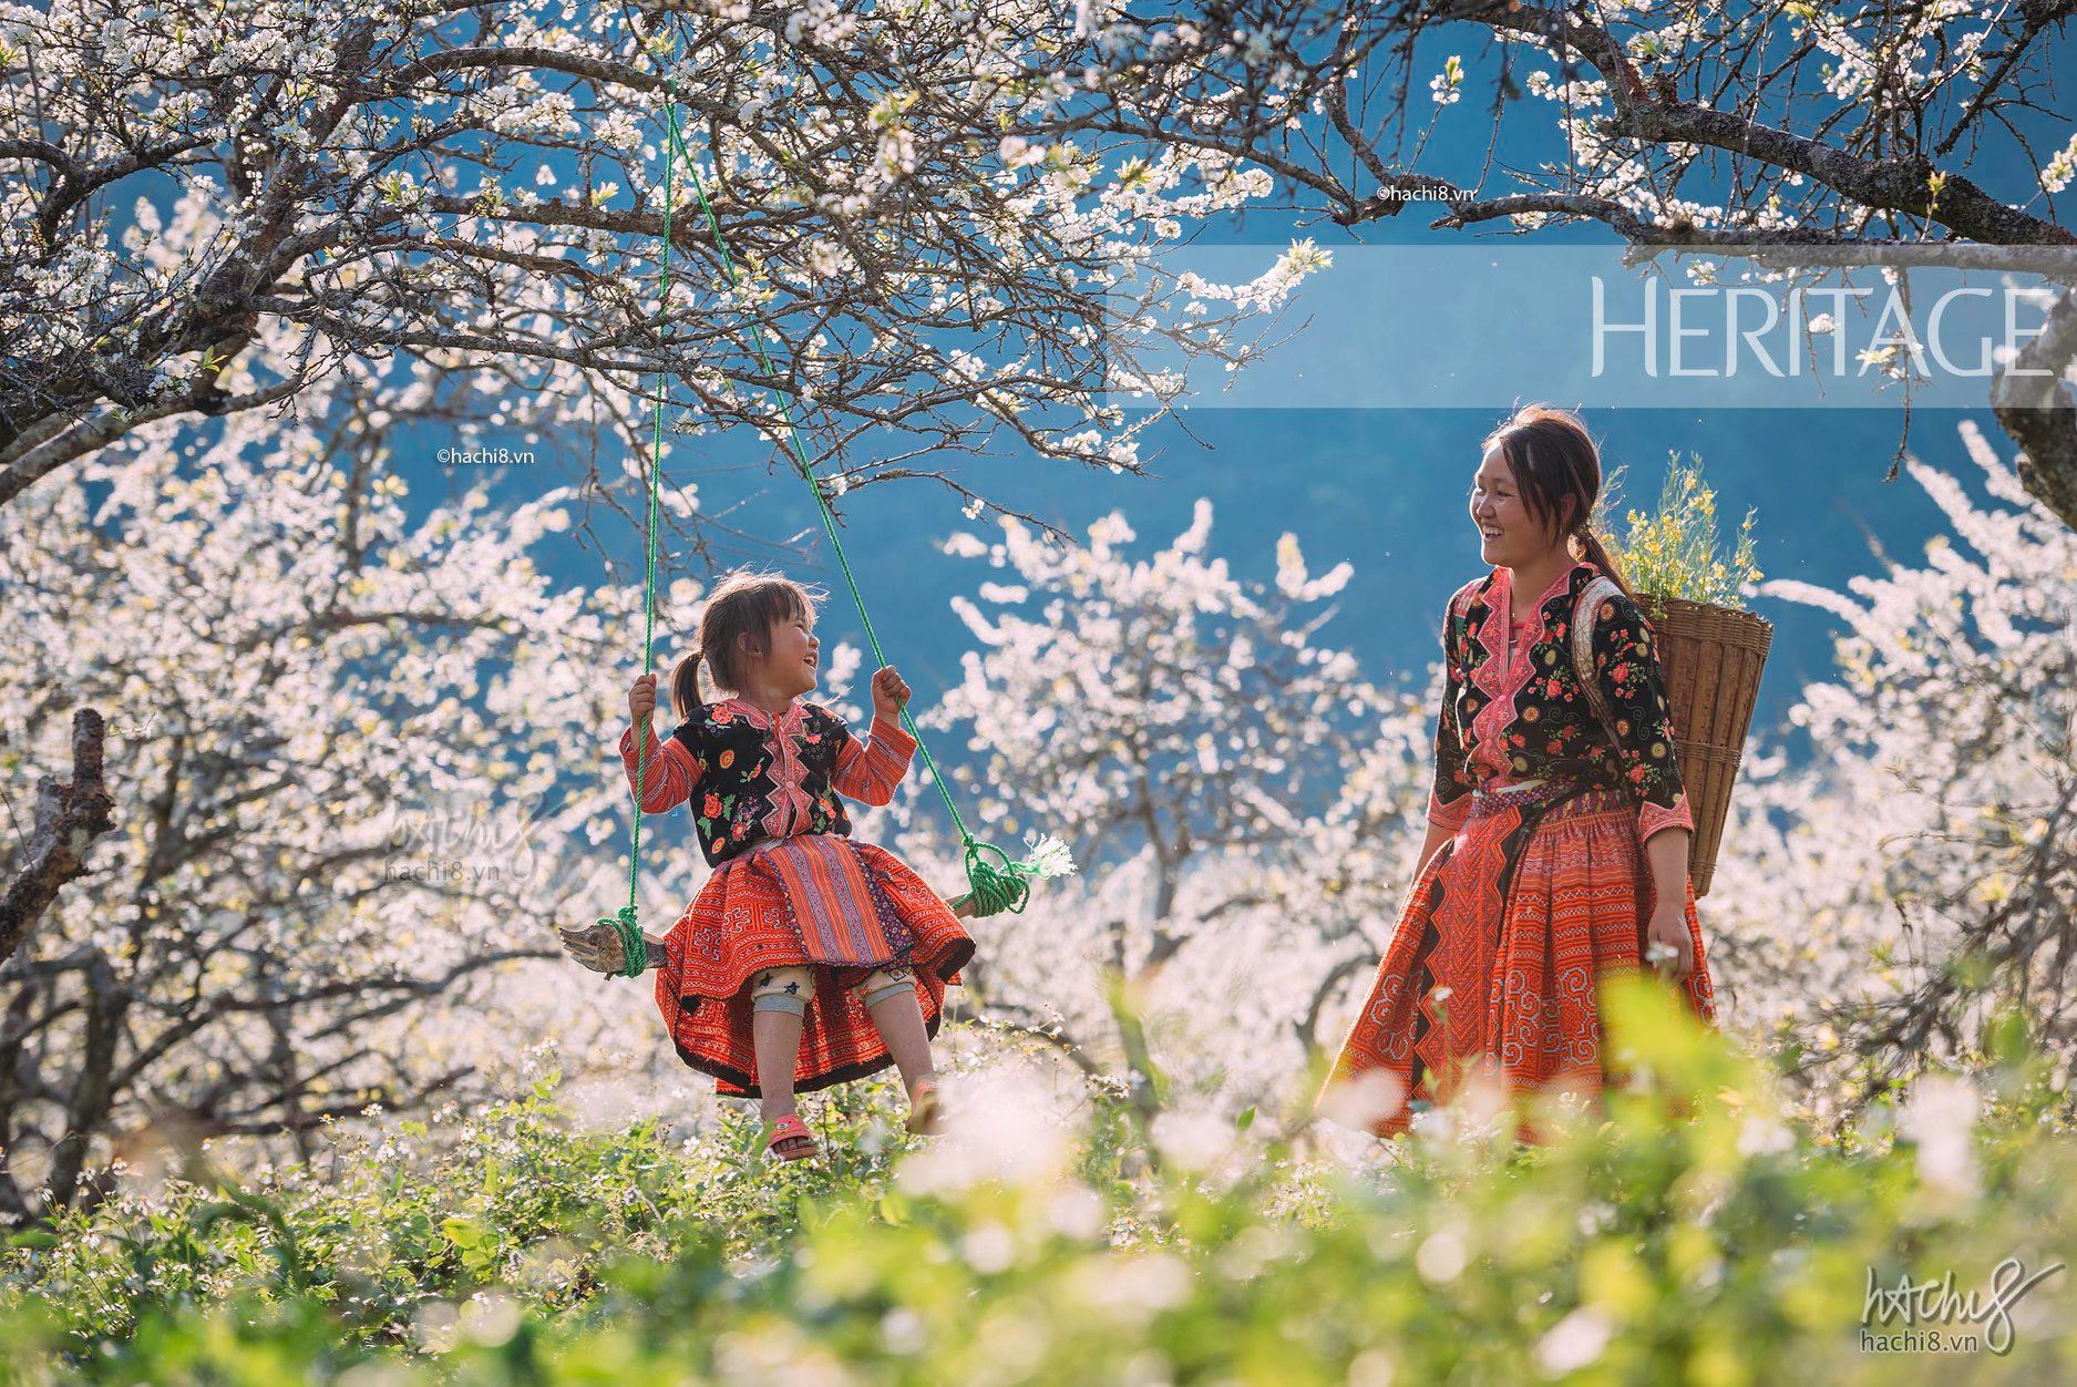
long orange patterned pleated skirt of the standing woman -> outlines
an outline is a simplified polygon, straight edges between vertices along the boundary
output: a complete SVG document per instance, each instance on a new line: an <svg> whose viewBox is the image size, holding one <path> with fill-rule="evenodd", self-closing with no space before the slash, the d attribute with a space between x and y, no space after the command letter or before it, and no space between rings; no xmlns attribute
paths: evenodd
<svg viewBox="0 0 2077 1387"><path fill-rule="evenodd" d="M1599 1105L1597 982L1645 968L1655 897L1635 799L1562 783L1477 793L1414 880L1321 1098L1392 1073L1402 1100L1369 1125L1387 1138L1408 1130L1412 1103L1448 1103L1475 1073L1510 1096L1562 1086ZM1695 972L1678 992L1714 1026L1693 880L1687 926ZM1537 1140L1527 1121L1518 1136Z"/></svg>

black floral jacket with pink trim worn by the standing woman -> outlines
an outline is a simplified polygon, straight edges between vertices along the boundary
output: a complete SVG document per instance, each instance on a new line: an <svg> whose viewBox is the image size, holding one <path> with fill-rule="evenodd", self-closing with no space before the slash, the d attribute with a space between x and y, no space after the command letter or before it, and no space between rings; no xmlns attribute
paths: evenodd
<svg viewBox="0 0 2077 1387"><path fill-rule="evenodd" d="M1477 785L1568 779L1628 793L1637 801L1639 839L1664 828L1695 828L1657 644L1643 610L1620 592L1585 615L1593 621L1591 671L1614 735L1595 718L1579 685L1572 613L1597 573L1593 563L1574 563L1535 598L1537 615L1512 660L1506 637L1510 569L1495 567L1450 596L1431 822L1460 828ZM1527 600L1516 598L1518 613L1527 610Z"/></svg>

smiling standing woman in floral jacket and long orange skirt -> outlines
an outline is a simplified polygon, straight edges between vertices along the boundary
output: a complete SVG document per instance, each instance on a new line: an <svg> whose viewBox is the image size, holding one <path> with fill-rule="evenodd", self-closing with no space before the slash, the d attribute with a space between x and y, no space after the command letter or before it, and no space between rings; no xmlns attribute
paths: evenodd
<svg viewBox="0 0 2077 1387"><path fill-rule="evenodd" d="M1510 1094L1597 1100L1595 984L1647 957L1716 1022L1666 679L1589 529L1599 490L1572 413L1529 405L1485 438L1471 521L1493 569L1444 613L1421 870L1321 1090L1325 1103L1369 1078L1390 1107L1358 1119L1377 1136L1406 1132L1408 1103L1444 1103L1475 1071ZM1579 610L1601 575L1614 581ZM1591 623L1585 681L1574 621Z"/></svg>

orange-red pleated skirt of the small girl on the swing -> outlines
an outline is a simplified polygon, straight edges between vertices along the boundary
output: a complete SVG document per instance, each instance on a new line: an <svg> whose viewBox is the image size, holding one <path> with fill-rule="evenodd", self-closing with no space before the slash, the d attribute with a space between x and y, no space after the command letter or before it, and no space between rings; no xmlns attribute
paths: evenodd
<svg viewBox="0 0 2077 1387"><path fill-rule="evenodd" d="M852 990L874 968L895 963L916 974L924 1030L937 1036L945 988L974 957L974 941L939 895L885 847L852 843L864 870L874 936L883 959L849 963L808 955L793 901L775 872L754 858L714 868L700 895L665 934L665 966L656 970L656 1007L677 1057L714 1078L723 1096L760 1096L750 1042L750 978L766 968L812 968L814 997L802 1019L793 1092L814 1092L879 1073L893 1063L887 1042Z"/></svg>

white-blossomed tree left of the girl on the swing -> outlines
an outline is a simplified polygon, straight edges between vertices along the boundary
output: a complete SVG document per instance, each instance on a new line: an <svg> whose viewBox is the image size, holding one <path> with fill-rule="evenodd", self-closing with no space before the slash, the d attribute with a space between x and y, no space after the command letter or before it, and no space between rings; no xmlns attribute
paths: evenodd
<svg viewBox="0 0 2077 1387"><path fill-rule="evenodd" d="M640 592L536 567L567 492L407 513L401 432L488 401L399 372L312 382L322 428L158 419L0 511L0 795L21 826L91 704L114 801L0 961L0 1221L162 1138L299 1142L465 1090L540 1019L496 1019L542 1001L505 966L611 905L600 671Z"/></svg>

